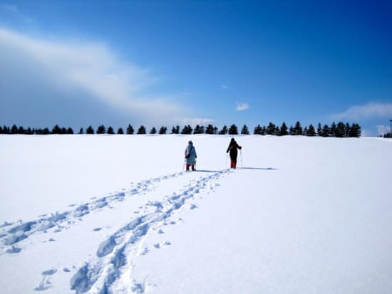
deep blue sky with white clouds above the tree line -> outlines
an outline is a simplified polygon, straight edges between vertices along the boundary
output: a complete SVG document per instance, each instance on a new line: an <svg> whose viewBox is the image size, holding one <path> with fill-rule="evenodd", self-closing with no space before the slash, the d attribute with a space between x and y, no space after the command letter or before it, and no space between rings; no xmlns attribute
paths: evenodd
<svg viewBox="0 0 392 294"><path fill-rule="evenodd" d="M0 2L0 125L392 119L391 1Z"/></svg>

